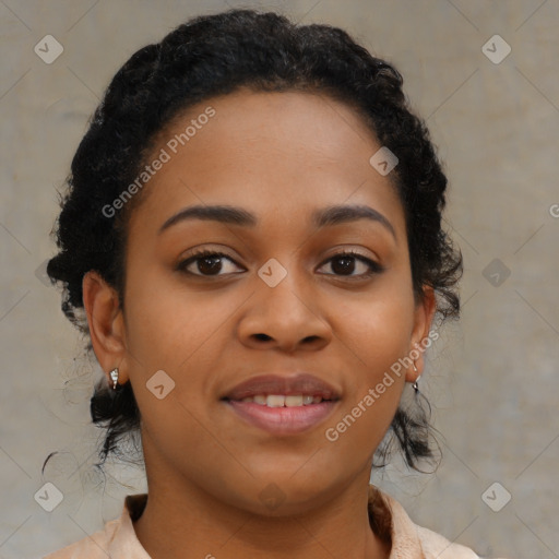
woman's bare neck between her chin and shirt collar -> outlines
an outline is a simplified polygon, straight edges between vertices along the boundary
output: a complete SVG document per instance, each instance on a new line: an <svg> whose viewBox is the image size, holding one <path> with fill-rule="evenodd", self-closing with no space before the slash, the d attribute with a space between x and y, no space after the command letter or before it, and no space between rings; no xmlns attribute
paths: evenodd
<svg viewBox="0 0 559 559"><path fill-rule="evenodd" d="M360 475L300 514L263 516L224 503L183 477L148 476L147 503L134 531L152 559L388 559L390 545L369 524L368 481Z"/></svg>

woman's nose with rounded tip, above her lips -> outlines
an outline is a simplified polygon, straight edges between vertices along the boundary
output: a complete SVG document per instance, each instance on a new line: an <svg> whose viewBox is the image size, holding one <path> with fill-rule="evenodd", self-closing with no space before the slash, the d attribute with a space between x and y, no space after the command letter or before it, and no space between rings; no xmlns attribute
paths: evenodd
<svg viewBox="0 0 559 559"><path fill-rule="evenodd" d="M275 287L262 282L247 305L238 335L248 347L293 353L321 349L332 340L317 293L312 285L296 282L295 274Z"/></svg>

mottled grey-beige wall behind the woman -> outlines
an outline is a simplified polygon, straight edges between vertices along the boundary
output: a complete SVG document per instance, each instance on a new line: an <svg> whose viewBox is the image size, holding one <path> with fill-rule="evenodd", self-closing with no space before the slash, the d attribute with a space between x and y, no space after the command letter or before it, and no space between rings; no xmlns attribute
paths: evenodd
<svg viewBox="0 0 559 559"><path fill-rule="evenodd" d="M342 26L394 62L445 163L464 309L421 383L444 457L436 474L395 461L373 481L415 522L481 555L559 557L559 1L3 0L0 558L81 539L145 489L141 469L116 464L100 485L93 475L102 431L88 399L100 370L83 359L41 266L55 250L57 189L116 70L185 19L228 5ZM64 49L51 64L34 52L47 34ZM481 50L495 34L512 49L500 63ZM34 499L47 481L64 496L50 513ZM496 481L493 508L512 495L499 512L481 498Z"/></svg>

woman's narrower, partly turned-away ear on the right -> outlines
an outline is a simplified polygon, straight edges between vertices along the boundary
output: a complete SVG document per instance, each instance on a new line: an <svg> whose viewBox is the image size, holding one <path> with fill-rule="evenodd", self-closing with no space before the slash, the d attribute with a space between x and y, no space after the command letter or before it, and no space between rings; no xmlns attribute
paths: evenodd
<svg viewBox="0 0 559 559"><path fill-rule="evenodd" d="M414 330L412 332L412 345L409 347L409 358L414 361L414 366L407 368L406 381L415 382L425 369L424 354L439 334L430 332L432 318L437 310L437 301L435 298L435 290L432 287L424 286L423 299L417 302L414 312Z"/></svg>

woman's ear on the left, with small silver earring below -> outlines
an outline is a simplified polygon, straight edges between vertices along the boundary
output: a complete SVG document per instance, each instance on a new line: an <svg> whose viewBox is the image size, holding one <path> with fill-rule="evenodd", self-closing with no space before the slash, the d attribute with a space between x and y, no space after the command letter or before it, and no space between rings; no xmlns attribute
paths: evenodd
<svg viewBox="0 0 559 559"><path fill-rule="evenodd" d="M105 371L109 384L109 372L119 367L119 383L124 384L128 372L126 329L118 293L97 272L87 272L82 282L83 305L95 356Z"/></svg>

